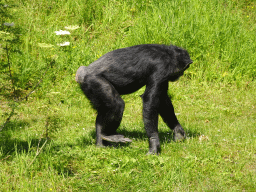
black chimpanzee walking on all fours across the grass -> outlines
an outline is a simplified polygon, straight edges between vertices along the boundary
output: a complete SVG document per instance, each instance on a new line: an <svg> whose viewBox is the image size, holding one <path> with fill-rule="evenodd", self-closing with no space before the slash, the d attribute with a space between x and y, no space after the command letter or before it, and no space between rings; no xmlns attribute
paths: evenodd
<svg viewBox="0 0 256 192"><path fill-rule="evenodd" d="M104 146L106 141L131 142L116 132L125 106L120 95L135 92L144 85L146 90L141 97L149 154L160 152L158 114L174 131L174 140L183 140L185 132L167 90L168 82L178 80L191 63L188 52L182 48L144 44L111 51L88 67L79 67L76 81L98 111L96 145Z"/></svg>

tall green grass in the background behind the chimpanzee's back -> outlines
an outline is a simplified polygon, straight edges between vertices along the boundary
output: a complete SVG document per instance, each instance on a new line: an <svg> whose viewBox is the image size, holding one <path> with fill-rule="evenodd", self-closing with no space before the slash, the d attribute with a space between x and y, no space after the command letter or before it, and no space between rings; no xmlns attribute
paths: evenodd
<svg viewBox="0 0 256 192"><path fill-rule="evenodd" d="M8 9L13 16L8 20L24 30L20 51L11 54L17 86L23 89L42 75L46 58L57 56L54 70L71 74L110 50L143 43L188 49L194 64L186 75L200 81L248 81L256 74L255 25L244 22L248 18L232 1L34 0L13 4L2 9ZM80 28L69 38L57 37L54 31L67 25ZM71 47L38 47L38 43L56 45L63 40L71 41Z"/></svg>

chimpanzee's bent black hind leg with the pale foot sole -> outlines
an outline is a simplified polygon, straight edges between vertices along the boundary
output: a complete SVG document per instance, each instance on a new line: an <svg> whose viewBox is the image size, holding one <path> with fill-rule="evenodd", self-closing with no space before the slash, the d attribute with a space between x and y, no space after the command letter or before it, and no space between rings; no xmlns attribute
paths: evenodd
<svg viewBox="0 0 256 192"><path fill-rule="evenodd" d="M131 142L116 133L124 111L124 101L116 89L104 78L86 76L81 84L85 95L97 109L96 144L103 146L103 141Z"/></svg>

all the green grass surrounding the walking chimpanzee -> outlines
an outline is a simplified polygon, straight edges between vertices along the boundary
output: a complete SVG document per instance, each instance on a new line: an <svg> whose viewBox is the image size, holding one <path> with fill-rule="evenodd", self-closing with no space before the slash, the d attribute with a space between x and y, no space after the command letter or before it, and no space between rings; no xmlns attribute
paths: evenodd
<svg viewBox="0 0 256 192"><path fill-rule="evenodd" d="M1 23L15 23L0 27L0 191L256 190L255 2L32 0L0 7ZM55 35L68 25L80 28ZM71 45L57 46L64 41ZM160 119L159 156L145 155L143 88L123 96L119 132L133 142L97 148L96 112L74 81L80 65L142 43L184 47L194 61L169 85L188 138L173 142ZM27 101L14 102L38 82Z"/></svg>

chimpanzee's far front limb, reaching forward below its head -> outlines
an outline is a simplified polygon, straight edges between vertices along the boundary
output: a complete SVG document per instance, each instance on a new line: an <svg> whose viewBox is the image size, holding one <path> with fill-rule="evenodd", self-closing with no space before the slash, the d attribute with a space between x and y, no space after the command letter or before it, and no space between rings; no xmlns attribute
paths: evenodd
<svg viewBox="0 0 256 192"><path fill-rule="evenodd" d="M172 102L167 94L162 95L159 114L163 118L164 122L174 132L174 141L181 141L185 138L185 131L180 125L175 113Z"/></svg>

